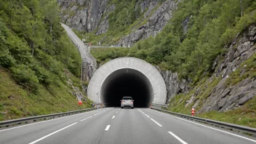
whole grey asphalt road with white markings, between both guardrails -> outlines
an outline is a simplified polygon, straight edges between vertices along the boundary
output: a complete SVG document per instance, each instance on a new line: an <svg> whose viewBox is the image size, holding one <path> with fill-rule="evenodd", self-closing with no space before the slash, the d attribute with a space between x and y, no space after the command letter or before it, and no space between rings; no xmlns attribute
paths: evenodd
<svg viewBox="0 0 256 144"><path fill-rule="evenodd" d="M33 143L256 143L228 132L148 108L103 108L0 129L1 144Z"/></svg>

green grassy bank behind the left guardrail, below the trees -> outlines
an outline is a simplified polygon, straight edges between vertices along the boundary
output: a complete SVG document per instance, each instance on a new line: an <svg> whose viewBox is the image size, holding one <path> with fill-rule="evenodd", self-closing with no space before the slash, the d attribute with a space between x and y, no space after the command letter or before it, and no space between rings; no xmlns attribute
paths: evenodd
<svg viewBox="0 0 256 144"><path fill-rule="evenodd" d="M89 100L78 105L72 92L68 84L59 80L58 86L39 86L39 91L33 94L17 85L9 72L0 69L0 121L91 107Z"/></svg>

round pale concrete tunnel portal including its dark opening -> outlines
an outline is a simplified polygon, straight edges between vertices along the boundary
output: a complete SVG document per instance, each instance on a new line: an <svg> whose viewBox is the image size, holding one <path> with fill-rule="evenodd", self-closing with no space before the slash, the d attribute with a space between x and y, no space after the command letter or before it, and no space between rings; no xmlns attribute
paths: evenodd
<svg viewBox="0 0 256 144"><path fill-rule="evenodd" d="M165 104L164 79L153 65L134 57L121 57L102 65L89 81L87 95L94 103L119 107L122 97L132 97L135 107Z"/></svg>

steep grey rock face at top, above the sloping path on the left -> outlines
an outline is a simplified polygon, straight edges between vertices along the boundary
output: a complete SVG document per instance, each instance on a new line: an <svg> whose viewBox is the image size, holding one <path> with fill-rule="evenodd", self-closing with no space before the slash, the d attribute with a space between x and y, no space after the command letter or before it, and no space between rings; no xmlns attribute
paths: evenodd
<svg viewBox="0 0 256 144"><path fill-rule="evenodd" d="M99 25L100 33L107 31L108 20L100 23L104 13L114 9L114 5L107 7L108 0L57 0L61 7L63 23L78 31L93 31Z"/></svg>

